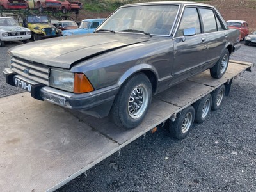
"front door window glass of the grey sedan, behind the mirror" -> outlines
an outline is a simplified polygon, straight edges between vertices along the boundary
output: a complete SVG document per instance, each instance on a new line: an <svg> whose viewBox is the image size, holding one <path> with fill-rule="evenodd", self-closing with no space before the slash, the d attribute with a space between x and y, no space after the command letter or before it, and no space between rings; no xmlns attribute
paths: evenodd
<svg viewBox="0 0 256 192"><path fill-rule="evenodd" d="M188 28L196 28L196 33L201 33L200 20L196 8L186 8L184 10L176 36L183 36L183 30Z"/></svg>

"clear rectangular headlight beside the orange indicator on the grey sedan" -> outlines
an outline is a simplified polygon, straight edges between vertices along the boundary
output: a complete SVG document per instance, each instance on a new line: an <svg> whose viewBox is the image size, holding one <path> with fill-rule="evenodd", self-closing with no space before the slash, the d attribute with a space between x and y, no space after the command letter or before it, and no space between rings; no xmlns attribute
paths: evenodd
<svg viewBox="0 0 256 192"><path fill-rule="evenodd" d="M50 86L67 92L73 92L74 73L68 70L51 69Z"/></svg>

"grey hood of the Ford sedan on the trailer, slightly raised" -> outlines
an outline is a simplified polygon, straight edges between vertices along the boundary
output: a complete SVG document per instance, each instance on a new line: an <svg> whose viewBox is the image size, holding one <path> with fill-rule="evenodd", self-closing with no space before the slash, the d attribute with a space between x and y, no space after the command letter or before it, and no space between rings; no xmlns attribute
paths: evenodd
<svg viewBox="0 0 256 192"><path fill-rule="evenodd" d="M13 56L52 67L70 68L76 61L132 44L147 42L146 35L93 33L40 40L10 49Z"/></svg>

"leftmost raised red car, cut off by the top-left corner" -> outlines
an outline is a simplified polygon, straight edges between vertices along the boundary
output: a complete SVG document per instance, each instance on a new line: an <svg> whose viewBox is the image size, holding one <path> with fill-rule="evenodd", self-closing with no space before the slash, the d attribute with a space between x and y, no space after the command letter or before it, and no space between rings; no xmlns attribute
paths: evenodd
<svg viewBox="0 0 256 192"><path fill-rule="evenodd" d="M0 0L0 6L2 10L20 10L27 9L28 3L25 0Z"/></svg>

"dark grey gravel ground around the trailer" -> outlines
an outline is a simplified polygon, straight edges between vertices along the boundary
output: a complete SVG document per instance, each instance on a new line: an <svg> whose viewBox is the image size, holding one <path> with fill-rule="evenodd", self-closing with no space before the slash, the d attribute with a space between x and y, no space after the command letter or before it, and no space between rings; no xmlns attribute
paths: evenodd
<svg viewBox="0 0 256 192"><path fill-rule="evenodd" d="M1 70L13 45L1 48ZM255 53L243 45L231 59L255 62ZM256 191L255 82L255 71L239 76L221 109L194 124L184 140L164 128L148 133L58 191ZM0 87L0 97L20 92L3 74Z"/></svg>

